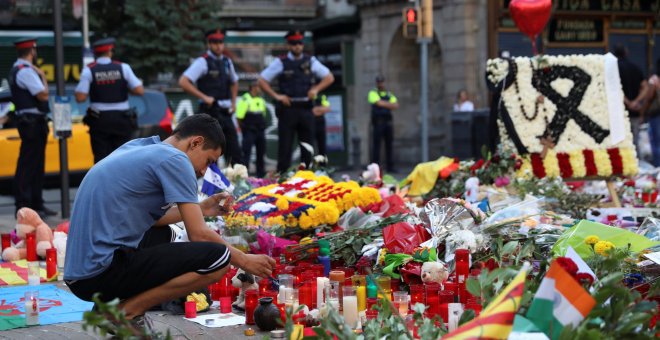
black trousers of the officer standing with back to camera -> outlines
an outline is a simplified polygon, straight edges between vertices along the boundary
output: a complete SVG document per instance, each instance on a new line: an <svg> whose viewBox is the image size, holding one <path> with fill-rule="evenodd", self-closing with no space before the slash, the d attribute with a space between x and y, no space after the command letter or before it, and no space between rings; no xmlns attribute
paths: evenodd
<svg viewBox="0 0 660 340"><path fill-rule="evenodd" d="M102 111L99 117L87 114L85 124L89 126L94 163L100 162L131 140L136 128L128 111Z"/></svg>

